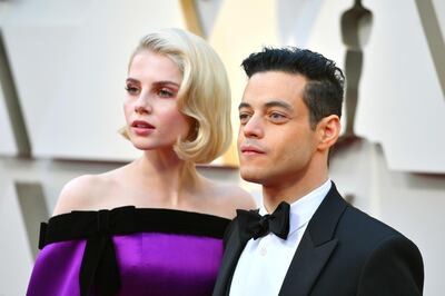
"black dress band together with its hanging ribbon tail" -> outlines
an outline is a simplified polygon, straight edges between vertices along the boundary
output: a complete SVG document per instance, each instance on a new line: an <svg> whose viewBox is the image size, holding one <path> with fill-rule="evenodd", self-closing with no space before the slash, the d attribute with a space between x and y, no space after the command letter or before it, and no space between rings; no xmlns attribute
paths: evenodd
<svg viewBox="0 0 445 296"><path fill-rule="evenodd" d="M80 295L116 295L119 266L112 235L167 233L222 238L229 219L175 209L136 208L73 210L51 217L40 227L39 248L57 241L87 239L80 265Z"/></svg>

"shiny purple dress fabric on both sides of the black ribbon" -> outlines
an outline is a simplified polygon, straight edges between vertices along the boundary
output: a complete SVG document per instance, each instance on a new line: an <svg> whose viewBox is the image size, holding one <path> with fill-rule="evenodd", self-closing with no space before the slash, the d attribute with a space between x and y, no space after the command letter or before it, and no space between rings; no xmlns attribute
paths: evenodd
<svg viewBox="0 0 445 296"><path fill-rule="evenodd" d="M222 240L205 236L138 233L112 237L119 265L118 295L211 295ZM85 239L47 245L39 254L28 296L80 295Z"/></svg>

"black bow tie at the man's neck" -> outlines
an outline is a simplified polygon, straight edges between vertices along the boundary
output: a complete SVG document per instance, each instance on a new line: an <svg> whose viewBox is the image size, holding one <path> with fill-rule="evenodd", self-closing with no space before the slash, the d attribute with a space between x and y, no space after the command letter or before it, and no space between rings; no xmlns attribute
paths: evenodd
<svg viewBox="0 0 445 296"><path fill-rule="evenodd" d="M258 210L237 209L239 238L245 244L250 238L266 236L269 233L286 239L289 234L289 209L286 201L281 201L273 214L261 216Z"/></svg>

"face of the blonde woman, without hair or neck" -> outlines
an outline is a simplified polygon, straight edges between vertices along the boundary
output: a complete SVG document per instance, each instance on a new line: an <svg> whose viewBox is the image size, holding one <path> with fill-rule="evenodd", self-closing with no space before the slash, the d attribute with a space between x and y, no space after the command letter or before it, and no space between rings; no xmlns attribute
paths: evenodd
<svg viewBox="0 0 445 296"><path fill-rule="evenodd" d="M187 137L190 125L177 105L181 81L182 73L168 57L148 50L134 57L123 110L136 148L171 149L178 137Z"/></svg>

